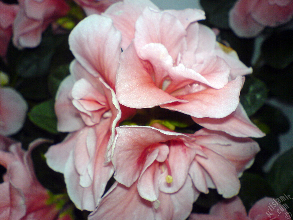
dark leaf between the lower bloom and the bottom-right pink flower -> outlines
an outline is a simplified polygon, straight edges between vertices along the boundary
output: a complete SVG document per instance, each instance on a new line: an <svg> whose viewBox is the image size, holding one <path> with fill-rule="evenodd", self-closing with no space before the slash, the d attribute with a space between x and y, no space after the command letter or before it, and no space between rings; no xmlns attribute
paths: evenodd
<svg viewBox="0 0 293 220"><path fill-rule="evenodd" d="M260 175L244 172L240 183L239 197L246 210L249 210L255 202L263 197L275 197L270 184Z"/></svg>

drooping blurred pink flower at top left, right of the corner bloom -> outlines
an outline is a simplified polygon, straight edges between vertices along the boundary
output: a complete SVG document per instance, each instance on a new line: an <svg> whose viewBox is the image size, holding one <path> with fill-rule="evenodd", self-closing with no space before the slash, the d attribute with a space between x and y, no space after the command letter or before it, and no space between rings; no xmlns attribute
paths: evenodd
<svg viewBox="0 0 293 220"><path fill-rule="evenodd" d="M18 48L37 47L48 25L69 11L63 0L18 0L18 3L20 9L13 23L13 44Z"/></svg>

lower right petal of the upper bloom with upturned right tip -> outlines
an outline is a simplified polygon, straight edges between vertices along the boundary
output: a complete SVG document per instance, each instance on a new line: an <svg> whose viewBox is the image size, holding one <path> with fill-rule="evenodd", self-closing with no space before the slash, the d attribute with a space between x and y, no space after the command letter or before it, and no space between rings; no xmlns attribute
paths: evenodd
<svg viewBox="0 0 293 220"><path fill-rule="evenodd" d="M239 104L242 77L228 82L222 89L207 88L200 92L176 96L187 103L174 102L160 105L162 108L175 110L197 118L223 118L235 111Z"/></svg>

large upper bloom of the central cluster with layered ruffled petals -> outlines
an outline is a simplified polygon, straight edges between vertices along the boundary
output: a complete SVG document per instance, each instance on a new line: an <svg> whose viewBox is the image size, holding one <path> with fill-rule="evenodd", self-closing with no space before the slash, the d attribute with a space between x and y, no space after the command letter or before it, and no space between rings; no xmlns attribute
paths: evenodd
<svg viewBox="0 0 293 220"><path fill-rule="evenodd" d="M209 129L264 136L239 104L242 76L252 69L235 51L217 43L210 28L197 23L205 18L203 11L159 11L149 1L127 0L113 4L104 15L122 33L124 51L116 79L121 104L161 106L189 114ZM231 131L224 120L217 120L225 117L246 129Z"/></svg>

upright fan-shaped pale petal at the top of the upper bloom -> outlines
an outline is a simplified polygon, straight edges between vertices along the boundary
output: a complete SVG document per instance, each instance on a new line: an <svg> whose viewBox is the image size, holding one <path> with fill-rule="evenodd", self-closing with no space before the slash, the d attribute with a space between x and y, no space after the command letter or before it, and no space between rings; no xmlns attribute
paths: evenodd
<svg viewBox="0 0 293 220"><path fill-rule="evenodd" d="M146 8L135 25L134 45L140 57L142 47L149 43L161 43L176 61L185 45L185 35L183 25L175 16Z"/></svg>

